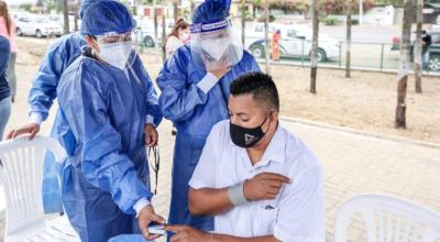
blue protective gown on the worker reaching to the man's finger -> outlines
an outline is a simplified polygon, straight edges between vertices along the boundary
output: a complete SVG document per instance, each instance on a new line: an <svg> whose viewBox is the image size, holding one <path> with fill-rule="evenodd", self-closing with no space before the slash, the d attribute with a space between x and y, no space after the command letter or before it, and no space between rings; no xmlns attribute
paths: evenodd
<svg viewBox="0 0 440 242"><path fill-rule="evenodd" d="M145 119L157 103L139 56L123 72L79 57L57 88L58 139L67 152L63 205L82 242L139 232L133 206L151 199ZM145 81L148 80L148 81ZM155 106L155 107L154 107ZM158 124L162 117L154 117Z"/></svg>

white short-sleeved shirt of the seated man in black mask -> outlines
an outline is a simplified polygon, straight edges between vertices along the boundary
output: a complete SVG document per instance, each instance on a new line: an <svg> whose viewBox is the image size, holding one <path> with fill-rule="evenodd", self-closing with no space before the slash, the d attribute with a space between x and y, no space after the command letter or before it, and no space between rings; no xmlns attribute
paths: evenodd
<svg viewBox="0 0 440 242"><path fill-rule="evenodd" d="M233 144L229 120L209 134L189 186L226 188L270 172L289 177L274 200L251 201L216 216L215 232L280 241L324 241L322 168L311 151L280 124L262 160L252 165L245 148Z"/></svg>

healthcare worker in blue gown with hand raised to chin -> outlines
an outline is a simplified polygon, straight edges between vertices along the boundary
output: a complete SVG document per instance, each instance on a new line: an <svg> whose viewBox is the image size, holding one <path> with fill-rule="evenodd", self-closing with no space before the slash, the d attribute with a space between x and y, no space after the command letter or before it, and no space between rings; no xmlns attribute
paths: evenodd
<svg viewBox="0 0 440 242"><path fill-rule="evenodd" d="M176 123L169 224L213 230L211 217L193 217L188 182L211 128L228 119L229 85L260 70L243 51L229 18L229 1L207 0L195 11L189 45L169 58L157 77L162 114Z"/></svg>

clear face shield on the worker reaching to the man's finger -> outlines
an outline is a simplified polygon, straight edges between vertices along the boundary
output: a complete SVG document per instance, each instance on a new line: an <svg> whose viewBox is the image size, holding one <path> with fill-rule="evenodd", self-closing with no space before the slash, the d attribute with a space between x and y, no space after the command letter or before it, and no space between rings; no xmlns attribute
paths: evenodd
<svg viewBox="0 0 440 242"><path fill-rule="evenodd" d="M135 56L132 33L107 33L96 36L99 50L97 56L109 65L124 69L132 65Z"/></svg>

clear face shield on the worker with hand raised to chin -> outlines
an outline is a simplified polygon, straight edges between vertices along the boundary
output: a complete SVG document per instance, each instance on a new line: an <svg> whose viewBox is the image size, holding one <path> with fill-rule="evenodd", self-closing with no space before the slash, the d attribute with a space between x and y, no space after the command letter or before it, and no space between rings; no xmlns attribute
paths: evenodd
<svg viewBox="0 0 440 242"><path fill-rule="evenodd" d="M193 24L190 31L191 58L207 72L228 68L243 57L243 45L230 18Z"/></svg>

